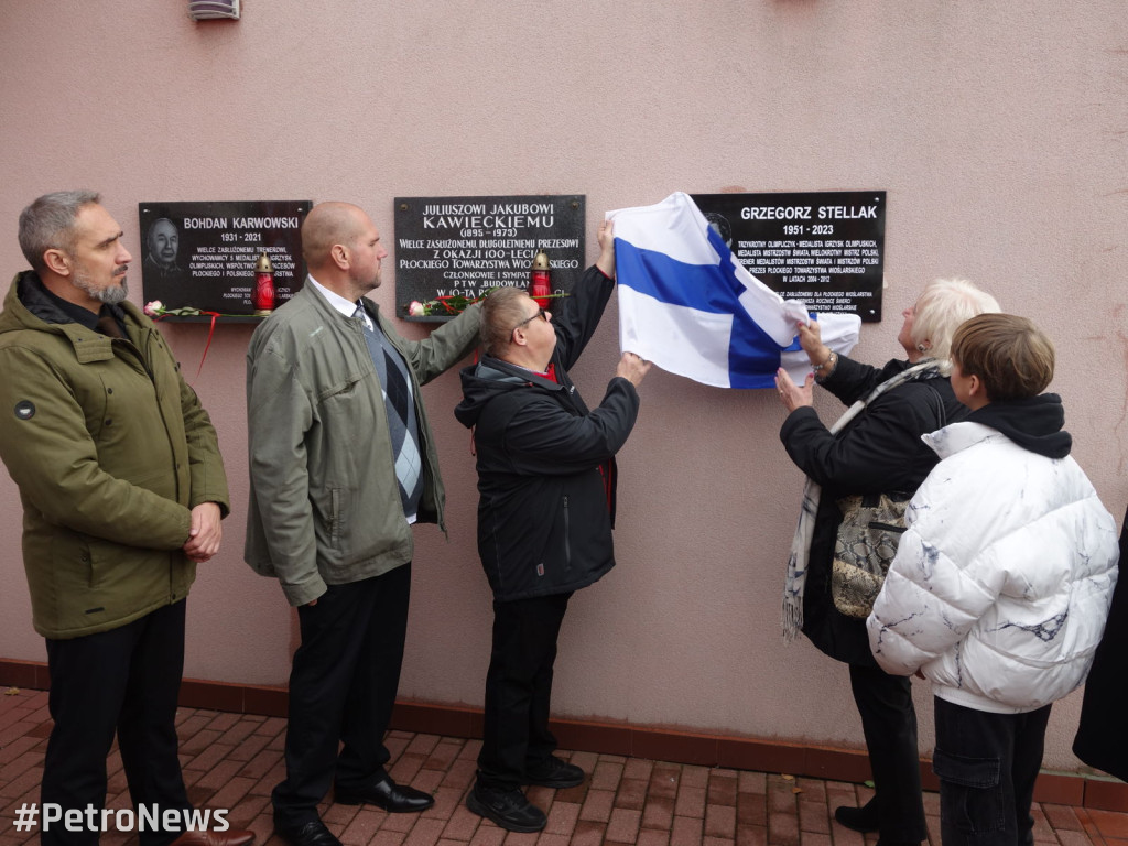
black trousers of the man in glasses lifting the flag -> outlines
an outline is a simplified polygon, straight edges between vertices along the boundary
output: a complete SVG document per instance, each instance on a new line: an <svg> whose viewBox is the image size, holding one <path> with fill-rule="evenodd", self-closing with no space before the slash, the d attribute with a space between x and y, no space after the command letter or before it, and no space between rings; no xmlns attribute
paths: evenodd
<svg viewBox="0 0 1128 846"><path fill-rule="evenodd" d="M529 764L549 757L548 731L556 638L571 593L494 602L493 646L486 672L485 729L478 783L512 790Z"/></svg>

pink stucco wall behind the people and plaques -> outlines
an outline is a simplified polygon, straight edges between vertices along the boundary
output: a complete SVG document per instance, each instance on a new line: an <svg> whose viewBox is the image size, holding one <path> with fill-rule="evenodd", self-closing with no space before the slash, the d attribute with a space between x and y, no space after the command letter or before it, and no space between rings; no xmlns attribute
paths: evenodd
<svg viewBox="0 0 1128 846"><path fill-rule="evenodd" d="M349 200L391 240L397 194L583 193L593 246L603 210L672 191L882 188L885 320L865 327L856 355L898 353L898 315L926 280L976 280L1054 336L1074 455L1123 511L1122 0L1021 11L1003 0L245 0L241 21L206 24L183 0L2 7L7 279L25 266L19 210L61 188L100 190L135 253L140 200ZM377 299L390 306L390 267L385 279ZM613 306L576 368L589 399L614 371L615 327ZM166 333L194 373L205 327ZM195 381L237 510L190 600L186 675L282 684L290 611L240 556L249 334L220 328ZM491 617L469 438L450 414L453 376L425 393L450 538L417 531L400 693L479 705ZM802 478L777 439L774 393L654 372L642 394L620 457L620 564L573 600L556 710L860 744L845 668L779 637ZM43 660L19 513L0 478L0 658ZM927 750L931 704L917 687ZM1075 694L1055 710L1047 766L1076 766L1078 704Z"/></svg>

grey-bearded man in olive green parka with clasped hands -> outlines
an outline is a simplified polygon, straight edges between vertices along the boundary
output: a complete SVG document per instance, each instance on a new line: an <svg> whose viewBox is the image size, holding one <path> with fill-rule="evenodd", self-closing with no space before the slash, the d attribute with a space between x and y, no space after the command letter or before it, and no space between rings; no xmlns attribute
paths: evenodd
<svg viewBox="0 0 1128 846"><path fill-rule="evenodd" d="M24 505L51 677L42 801L104 808L116 732L134 805L160 814L144 846L240 846L250 832L186 830L175 729L185 598L196 564L219 552L227 478L208 413L125 301L131 256L99 200L60 192L24 210L33 270L0 312L0 458ZM41 834L95 844L99 831Z"/></svg>

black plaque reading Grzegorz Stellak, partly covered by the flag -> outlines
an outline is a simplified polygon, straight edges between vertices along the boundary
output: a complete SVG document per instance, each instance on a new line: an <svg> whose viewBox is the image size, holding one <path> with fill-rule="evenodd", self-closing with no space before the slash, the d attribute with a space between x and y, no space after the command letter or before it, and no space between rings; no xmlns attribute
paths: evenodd
<svg viewBox="0 0 1128 846"><path fill-rule="evenodd" d="M695 194L749 273L812 311L881 319L885 192Z"/></svg>

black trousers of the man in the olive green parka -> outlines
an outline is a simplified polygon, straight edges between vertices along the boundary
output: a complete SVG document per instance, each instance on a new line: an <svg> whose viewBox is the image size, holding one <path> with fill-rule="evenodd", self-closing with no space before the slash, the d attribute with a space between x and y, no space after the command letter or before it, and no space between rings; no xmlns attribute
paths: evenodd
<svg viewBox="0 0 1128 846"><path fill-rule="evenodd" d="M41 802L63 809L106 807L106 756L117 733L133 807L191 808L176 757L176 699L184 669L186 602L118 628L67 641L47 640L54 720L43 765ZM164 846L183 830L142 831L144 846ZM98 843L98 831L42 831L45 846Z"/></svg>

